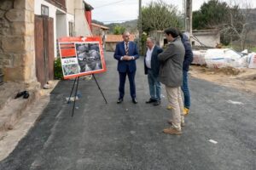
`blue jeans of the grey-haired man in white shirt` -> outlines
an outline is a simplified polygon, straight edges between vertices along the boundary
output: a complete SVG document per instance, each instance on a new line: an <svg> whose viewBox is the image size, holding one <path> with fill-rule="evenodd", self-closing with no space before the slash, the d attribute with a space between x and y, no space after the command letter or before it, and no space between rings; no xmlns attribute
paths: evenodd
<svg viewBox="0 0 256 170"><path fill-rule="evenodd" d="M154 77L151 69L148 69L148 85L151 99L160 100L161 84L157 80L157 77Z"/></svg>

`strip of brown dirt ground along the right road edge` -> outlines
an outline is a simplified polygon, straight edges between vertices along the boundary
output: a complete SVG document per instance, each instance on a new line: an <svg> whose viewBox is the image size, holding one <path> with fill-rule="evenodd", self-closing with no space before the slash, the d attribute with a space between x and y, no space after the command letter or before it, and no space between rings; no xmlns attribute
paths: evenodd
<svg viewBox="0 0 256 170"><path fill-rule="evenodd" d="M204 65L191 65L189 73L192 77L256 94L256 69L231 67L209 69Z"/></svg>

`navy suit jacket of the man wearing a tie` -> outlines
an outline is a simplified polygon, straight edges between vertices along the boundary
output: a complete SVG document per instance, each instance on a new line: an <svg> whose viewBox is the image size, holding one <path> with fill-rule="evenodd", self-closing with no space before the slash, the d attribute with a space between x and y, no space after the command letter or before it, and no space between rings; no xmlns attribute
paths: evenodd
<svg viewBox="0 0 256 170"><path fill-rule="evenodd" d="M121 57L125 56L125 42L118 42L116 44L116 48L113 54L113 58L117 59L118 62L118 67L117 70L119 72L126 72L126 71L136 71L136 59L139 58L139 54L137 51L137 44L135 42L129 42L129 50L128 50L128 55L133 56L134 59L131 59L129 61L126 60L121 60Z"/></svg>

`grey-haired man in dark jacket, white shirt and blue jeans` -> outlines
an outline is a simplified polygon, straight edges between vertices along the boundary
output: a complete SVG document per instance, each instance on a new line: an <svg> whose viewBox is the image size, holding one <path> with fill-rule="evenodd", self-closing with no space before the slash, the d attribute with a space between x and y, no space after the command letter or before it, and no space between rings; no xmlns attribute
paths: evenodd
<svg viewBox="0 0 256 170"><path fill-rule="evenodd" d="M163 49L154 44L154 38L147 38L147 53L144 59L145 74L148 75L148 86L150 99L147 104L153 103L160 105L161 85L158 80L160 62L157 59L158 54L163 52Z"/></svg>

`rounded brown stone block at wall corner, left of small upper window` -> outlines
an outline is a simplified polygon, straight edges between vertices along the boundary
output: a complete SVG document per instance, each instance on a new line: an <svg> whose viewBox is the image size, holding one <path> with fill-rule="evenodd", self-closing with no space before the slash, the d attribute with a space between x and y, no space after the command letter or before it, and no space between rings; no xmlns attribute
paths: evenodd
<svg viewBox="0 0 256 170"><path fill-rule="evenodd" d="M31 15L32 15L31 11L23 10L23 9L10 9L8 12L5 13L6 19L11 22L15 22L15 21L31 22L32 20Z"/></svg>

